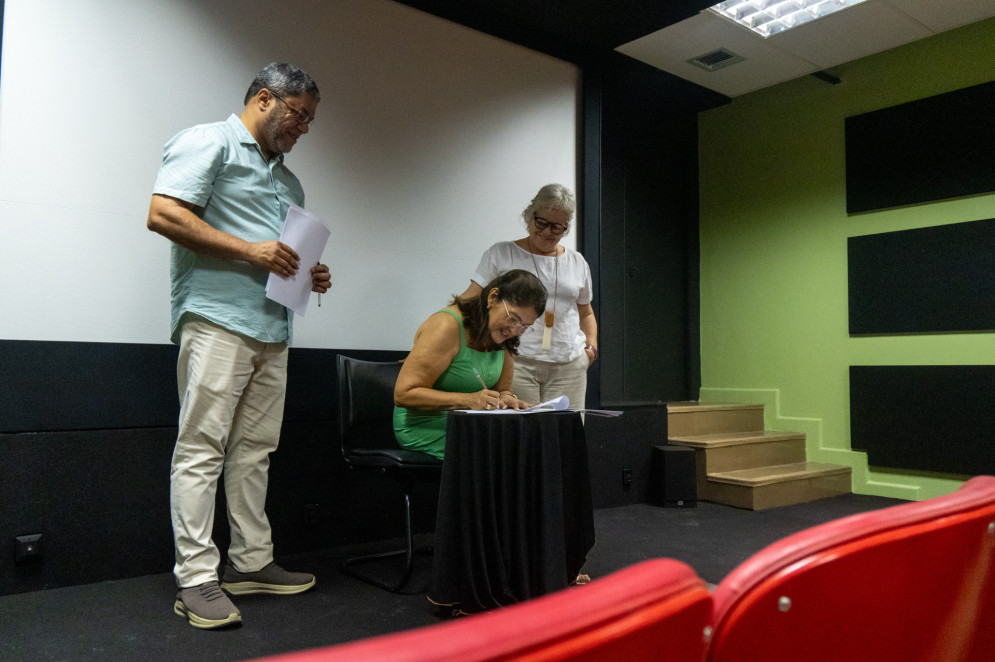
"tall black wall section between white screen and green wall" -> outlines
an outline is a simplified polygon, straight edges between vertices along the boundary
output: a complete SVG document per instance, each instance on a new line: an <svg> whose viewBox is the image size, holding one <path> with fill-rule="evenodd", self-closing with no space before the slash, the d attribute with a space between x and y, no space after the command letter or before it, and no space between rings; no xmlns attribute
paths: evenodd
<svg viewBox="0 0 995 662"><path fill-rule="evenodd" d="M697 113L725 98L692 88L621 55L584 72L586 119L599 123L585 125L581 219L600 265L595 406L698 395Z"/></svg>

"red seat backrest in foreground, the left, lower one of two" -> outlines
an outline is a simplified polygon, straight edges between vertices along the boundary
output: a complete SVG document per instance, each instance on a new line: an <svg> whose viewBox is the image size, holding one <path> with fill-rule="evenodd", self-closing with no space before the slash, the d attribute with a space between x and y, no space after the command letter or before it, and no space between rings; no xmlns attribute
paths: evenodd
<svg viewBox="0 0 995 662"><path fill-rule="evenodd" d="M643 561L505 609L270 662L701 662L711 597L689 566Z"/></svg>

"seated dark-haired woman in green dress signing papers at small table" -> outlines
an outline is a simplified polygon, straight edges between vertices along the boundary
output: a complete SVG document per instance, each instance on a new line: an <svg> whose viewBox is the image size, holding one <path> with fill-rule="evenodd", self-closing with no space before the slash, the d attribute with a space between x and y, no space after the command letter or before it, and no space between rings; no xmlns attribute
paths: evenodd
<svg viewBox="0 0 995 662"><path fill-rule="evenodd" d="M394 434L402 447L442 459L447 410L530 406L511 390L514 355L547 296L538 278L513 269L422 323L394 387Z"/></svg>

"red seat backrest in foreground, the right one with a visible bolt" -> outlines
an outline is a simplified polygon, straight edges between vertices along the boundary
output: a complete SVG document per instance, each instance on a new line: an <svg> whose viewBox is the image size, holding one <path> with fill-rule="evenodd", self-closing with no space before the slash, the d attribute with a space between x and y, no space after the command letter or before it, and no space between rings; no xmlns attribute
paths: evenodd
<svg viewBox="0 0 995 662"><path fill-rule="evenodd" d="M995 478L789 536L713 598L713 662L992 659Z"/></svg>

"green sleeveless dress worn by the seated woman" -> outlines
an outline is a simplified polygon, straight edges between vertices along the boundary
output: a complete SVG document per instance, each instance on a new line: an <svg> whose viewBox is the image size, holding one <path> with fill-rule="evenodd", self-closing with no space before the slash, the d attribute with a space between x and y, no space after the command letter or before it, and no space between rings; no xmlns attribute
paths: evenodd
<svg viewBox="0 0 995 662"><path fill-rule="evenodd" d="M449 367L439 375L432 388L449 393L476 393L482 386L474 368L483 377L488 388L497 383L504 367L504 350L480 352L466 346L466 330L463 320L451 310L443 309L456 318L459 324L460 351L453 357ZM394 407L394 436L402 448L421 451L440 460L446 453L446 412L417 411Z"/></svg>

